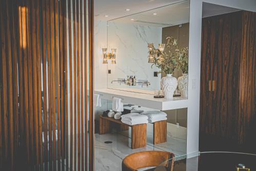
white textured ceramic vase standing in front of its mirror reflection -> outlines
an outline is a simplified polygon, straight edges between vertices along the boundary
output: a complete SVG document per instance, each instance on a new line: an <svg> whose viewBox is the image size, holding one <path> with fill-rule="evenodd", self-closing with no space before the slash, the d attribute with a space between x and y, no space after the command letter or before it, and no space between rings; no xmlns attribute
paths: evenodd
<svg viewBox="0 0 256 171"><path fill-rule="evenodd" d="M177 78L173 77L172 74L167 74L166 77L161 79L161 89L163 90L165 99L173 99L174 91L178 85Z"/></svg>

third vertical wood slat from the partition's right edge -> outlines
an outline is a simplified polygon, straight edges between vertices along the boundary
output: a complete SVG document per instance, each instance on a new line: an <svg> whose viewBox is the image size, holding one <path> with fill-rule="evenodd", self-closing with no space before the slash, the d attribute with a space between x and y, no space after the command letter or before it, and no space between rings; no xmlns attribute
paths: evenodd
<svg viewBox="0 0 256 171"><path fill-rule="evenodd" d="M81 170L84 170L84 157L83 157L83 45L82 45L82 0L80 0L80 65L81 65L81 71L80 71L80 89L81 89L81 115L80 115L80 122L81 122Z"/></svg>

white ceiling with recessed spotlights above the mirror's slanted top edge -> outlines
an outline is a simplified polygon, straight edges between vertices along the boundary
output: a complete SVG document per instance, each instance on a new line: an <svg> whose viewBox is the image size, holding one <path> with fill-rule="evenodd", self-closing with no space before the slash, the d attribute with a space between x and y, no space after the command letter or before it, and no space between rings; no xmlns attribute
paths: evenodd
<svg viewBox="0 0 256 171"><path fill-rule="evenodd" d="M183 0L95 0L95 19L111 20L182 1ZM130 9L130 11L126 11L126 9ZM105 15L108 15L108 17L105 17Z"/></svg>

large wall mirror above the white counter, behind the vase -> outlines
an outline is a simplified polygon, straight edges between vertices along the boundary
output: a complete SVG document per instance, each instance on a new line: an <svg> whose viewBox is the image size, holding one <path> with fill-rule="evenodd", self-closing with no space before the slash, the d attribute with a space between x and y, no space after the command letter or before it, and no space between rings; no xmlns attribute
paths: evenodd
<svg viewBox="0 0 256 171"><path fill-rule="evenodd" d="M189 1L109 20L107 26L108 46L102 48L105 51L102 53L106 54L108 65L108 88L154 94L161 89L160 80L166 74L150 61L148 45L154 44L159 50L159 44L164 44L165 55L177 56L177 49L185 52L189 37ZM187 69L182 71L181 67L173 72L177 79L187 74ZM129 83L131 79L135 83Z"/></svg>

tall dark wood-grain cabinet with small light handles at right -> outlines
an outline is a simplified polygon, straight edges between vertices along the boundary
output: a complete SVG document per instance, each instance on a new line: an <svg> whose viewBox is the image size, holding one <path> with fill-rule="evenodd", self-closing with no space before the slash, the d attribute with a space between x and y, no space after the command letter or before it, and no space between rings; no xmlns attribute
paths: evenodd
<svg viewBox="0 0 256 171"><path fill-rule="evenodd" d="M200 147L212 137L220 145L223 140L252 143L256 139L256 13L203 18L201 46Z"/></svg>

